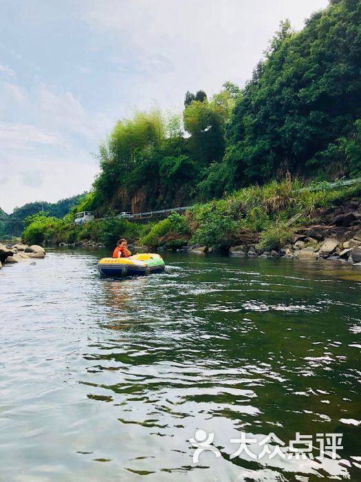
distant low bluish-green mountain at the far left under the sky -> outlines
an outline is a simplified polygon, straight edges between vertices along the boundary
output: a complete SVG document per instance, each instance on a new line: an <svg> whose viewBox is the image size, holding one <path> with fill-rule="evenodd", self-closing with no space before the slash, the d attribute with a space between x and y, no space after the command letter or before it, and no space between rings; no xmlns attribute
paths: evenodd
<svg viewBox="0 0 361 482"><path fill-rule="evenodd" d="M23 220L39 211L47 211L49 216L63 218L72 207L85 196L85 193L58 202L35 201L16 207L11 214L0 209L0 237L20 236L23 231Z"/></svg>

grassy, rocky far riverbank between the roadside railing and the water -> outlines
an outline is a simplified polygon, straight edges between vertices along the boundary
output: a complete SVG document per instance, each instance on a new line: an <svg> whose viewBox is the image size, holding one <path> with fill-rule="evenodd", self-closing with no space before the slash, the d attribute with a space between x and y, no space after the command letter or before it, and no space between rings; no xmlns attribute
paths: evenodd
<svg viewBox="0 0 361 482"><path fill-rule="evenodd" d="M28 244L108 247L119 238L155 249L225 252L230 255L330 258L361 262L361 185L304 186L286 178L240 189L221 200L195 205L184 215L149 224L117 218L75 226L33 216L23 232Z"/></svg>

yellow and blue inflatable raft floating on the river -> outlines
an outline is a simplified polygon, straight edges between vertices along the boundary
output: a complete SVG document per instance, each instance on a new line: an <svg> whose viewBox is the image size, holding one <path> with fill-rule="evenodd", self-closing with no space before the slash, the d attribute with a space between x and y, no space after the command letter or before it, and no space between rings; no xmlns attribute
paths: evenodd
<svg viewBox="0 0 361 482"><path fill-rule="evenodd" d="M132 276L159 273L165 267L159 254L141 253L129 258L102 258L98 271L105 276Z"/></svg>

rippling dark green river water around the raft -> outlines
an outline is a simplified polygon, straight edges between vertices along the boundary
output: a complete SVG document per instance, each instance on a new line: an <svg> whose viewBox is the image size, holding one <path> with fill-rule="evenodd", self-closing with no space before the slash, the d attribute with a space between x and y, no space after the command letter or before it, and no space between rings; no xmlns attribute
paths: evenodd
<svg viewBox="0 0 361 482"><path fill-rule="evenodd" d="M360 271L165 253L111 280L102 255L0 270L1 481L361 481Z"/></svg>

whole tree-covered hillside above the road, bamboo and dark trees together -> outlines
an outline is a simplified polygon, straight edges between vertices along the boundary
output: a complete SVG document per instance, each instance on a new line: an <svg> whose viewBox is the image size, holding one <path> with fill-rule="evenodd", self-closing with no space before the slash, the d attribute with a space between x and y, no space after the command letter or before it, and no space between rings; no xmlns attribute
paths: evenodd
<svg viewBox="0 0 361 482"><path fill-rule="evenodd" d="M189 205L287 173L359 176L360 23L359 1L331 0L300 32L281 23L243 90L226 82L210 98L187 92L179 115L154 109L118 121L80 208Z"/></svg>

